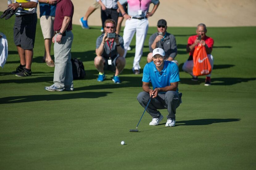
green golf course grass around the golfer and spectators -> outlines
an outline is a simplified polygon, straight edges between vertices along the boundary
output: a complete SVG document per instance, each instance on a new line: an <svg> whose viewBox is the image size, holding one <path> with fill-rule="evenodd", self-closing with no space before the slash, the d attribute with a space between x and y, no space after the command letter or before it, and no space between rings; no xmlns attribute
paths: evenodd
<svg viewBox="0 0 256 170"><path fill-rule="evenodd" d="M207 36L215 41L209 87L204 86L205 76L193 82L181 69L188 58L188 37L196 28L169 27L178 44L183 93L176 125L165 127L167 110L160 110L164 119L159 126L149 126L151 117L145 113L139 133L130 133L144 111L136 99L142 73L131 71L135 37L120 75L122 83L113 83L111 71L104 82L97 82L93 60L100 27L85 30L73 25L72 58L83 62L86 77L74 80L74 91L50 92L44 87L53 84L54 68L41 62L39 20L32 76L10 73L19 65L13 25L14 17L0 22L9 45L7 62L0 68L1 170L255 169L256 27L208 28ZM155 32L156 27L148 29L142 68Z"/></svg>

